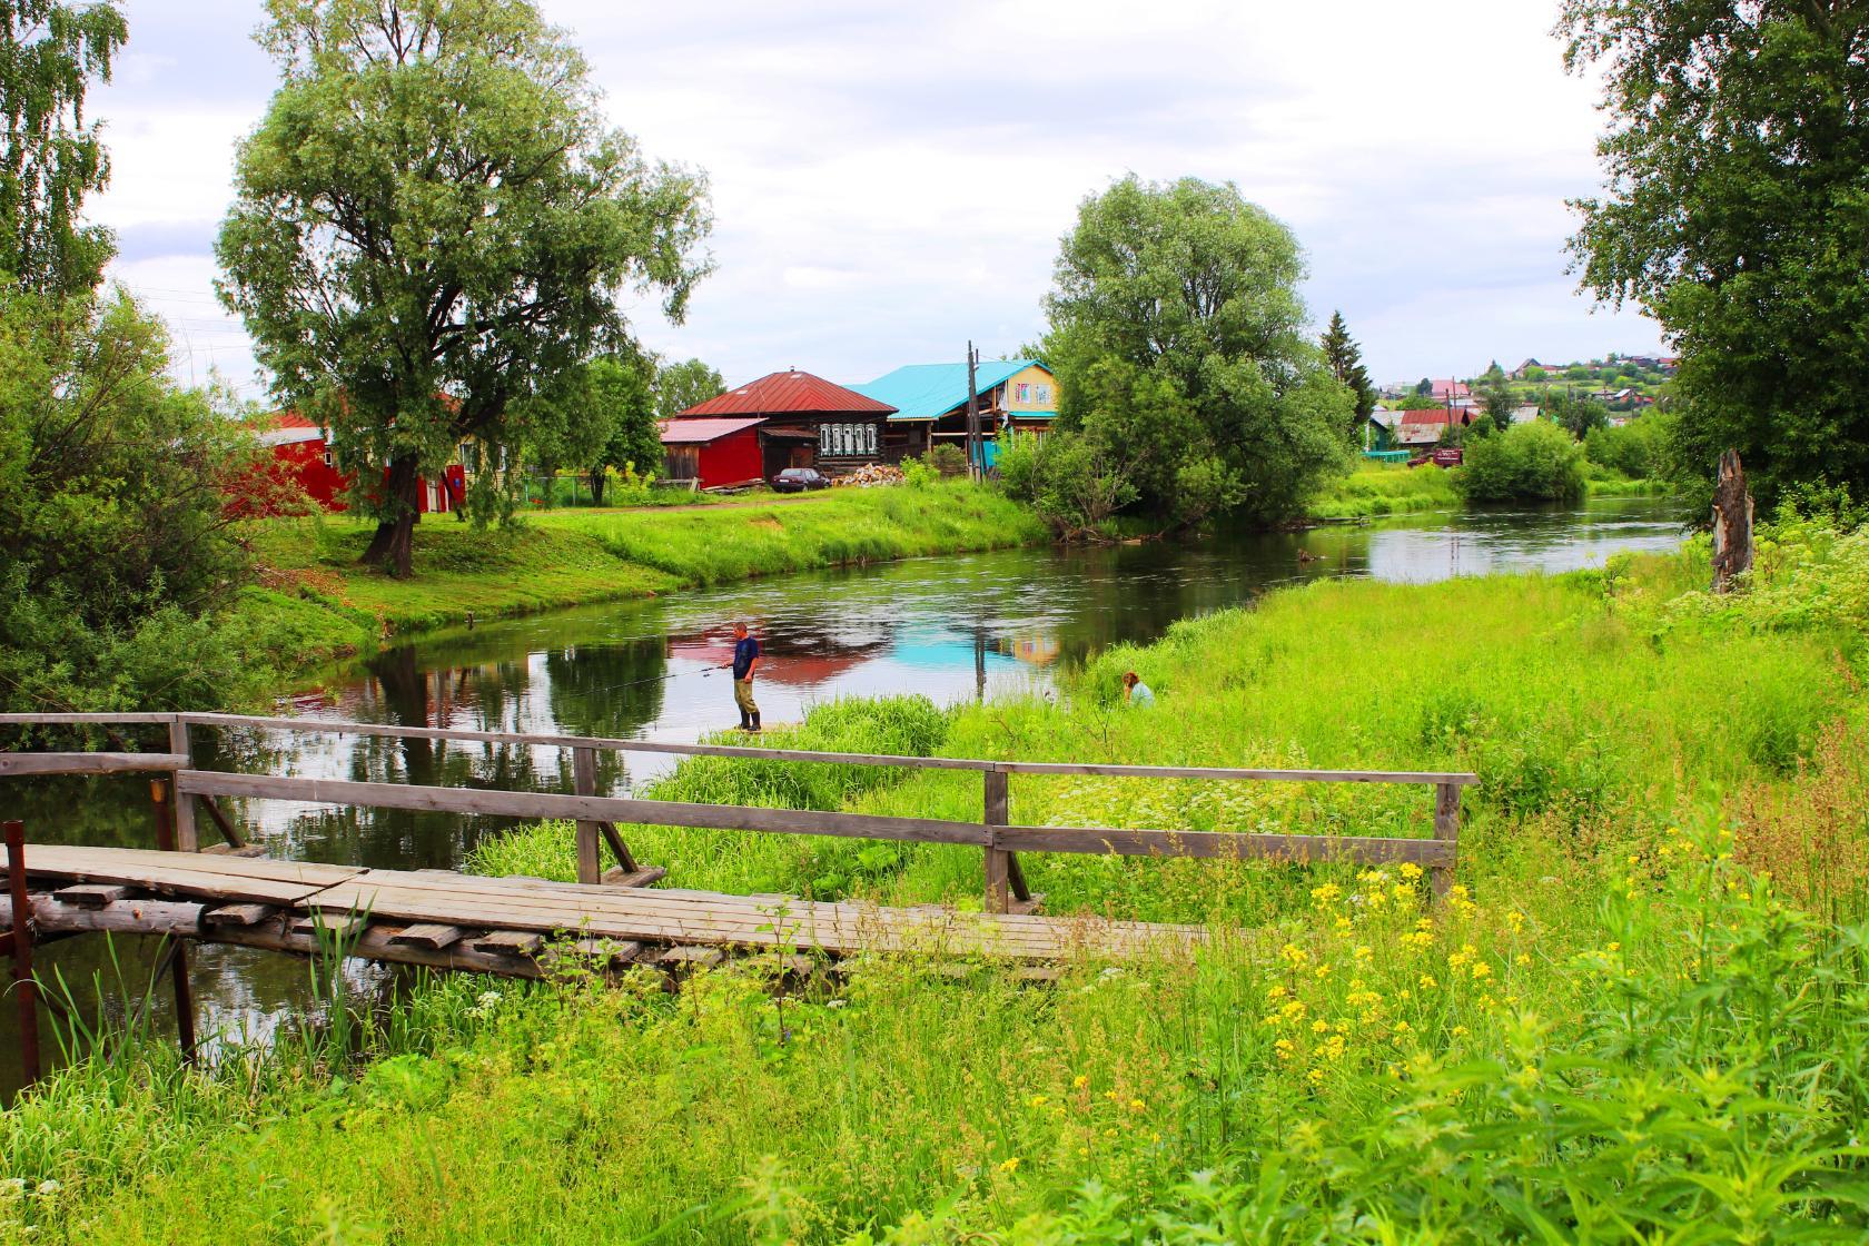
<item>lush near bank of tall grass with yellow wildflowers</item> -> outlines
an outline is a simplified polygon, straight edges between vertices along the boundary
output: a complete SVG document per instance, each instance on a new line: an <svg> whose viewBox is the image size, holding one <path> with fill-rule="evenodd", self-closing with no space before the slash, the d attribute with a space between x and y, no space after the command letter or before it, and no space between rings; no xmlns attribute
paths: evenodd
<svg viewBox="0 0 1869 1246"><path fill-rule="evenodd" d="M342 1042L211 1074L129 1048L0 1119L0 1175L22 1182L0 1224L131 1242L209 1218L230 1242L1862 1240L1869 536L1781 529L1738 598L1699 590L1705 553L1318 583L1106 654L1063 706L839 704L791 736L1471 768L1447 902L1405 869L1030 856L1052 912L1230 934L1054 990L892 960L804 996L753 968L675 998L452 979ZM1123 667L1155 710L1114 704ZM977 779L837 766L697 760L658 794L979 814ZM1015 820L1058 824L1426 833L1426 805L1013 785ZM628 835L671 885L981 885L977 852ZM546 826L480 865L568 876L568 844Z"/></svg>

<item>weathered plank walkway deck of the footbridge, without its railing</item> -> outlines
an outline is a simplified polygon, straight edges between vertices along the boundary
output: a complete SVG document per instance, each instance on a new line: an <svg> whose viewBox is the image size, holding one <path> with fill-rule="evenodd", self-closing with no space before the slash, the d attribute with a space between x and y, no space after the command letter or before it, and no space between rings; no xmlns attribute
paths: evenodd
<svg viewBox="0 0 1869 1246"><path fill-rule="evenodd" d="M1121 960L1187 951L1206 940L1202 927L1185 925L606 887L138 848L28 844L24 861L34 891L54 891L34 897L36 917L56 919L41 921L49 927L135 928L135 899L108 899L99 906L95 897L86 897L78 906L56 895L77 884L114 884L164 902L146 904L151 934L308 951L323 927L363 934L353 955L493 971L514 958L514 949L536 949L536 938L490 938L503 932L637 945L637 960L697 945L828 956L884 951L1019 962ZM256 904L277 912L254 921ZM64 912L80 908L82 913ZM447 938L449 930L454 938ZM450 949L454 943L480 955ZM482 956L492 964L475 962Z"/></svg>

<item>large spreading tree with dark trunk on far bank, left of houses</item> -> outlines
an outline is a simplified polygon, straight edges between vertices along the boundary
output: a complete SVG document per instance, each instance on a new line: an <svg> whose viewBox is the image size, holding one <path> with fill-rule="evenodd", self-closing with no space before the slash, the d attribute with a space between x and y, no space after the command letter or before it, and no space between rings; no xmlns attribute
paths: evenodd
<svg viewBox="0 0 1869 1246"><path fill-rule="evenodd" d="M269 0L280 88L241 144L222 299L277 396L333 432L411 572L421 476L473 439L523 448L527 404L628 344L619 295L671 319L708 265L699 176L650 166L583 58L523 0ZM477 521L510 510L477 473ZM510 488L510 486L508 486Z"/></svg>

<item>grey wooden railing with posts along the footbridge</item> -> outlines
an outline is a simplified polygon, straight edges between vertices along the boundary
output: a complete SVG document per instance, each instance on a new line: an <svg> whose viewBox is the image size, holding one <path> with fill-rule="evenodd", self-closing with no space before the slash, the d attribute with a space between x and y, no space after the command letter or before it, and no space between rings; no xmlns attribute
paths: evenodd
<svg viewBox="0 0 1869 1246"><path fill-rule="evenodd" d="M370 809L415 809L435 813L492 814L512 818L568 818L578 824L578 882L604 882L602 842L619 859L621 874L635 882L660 878L662 871L639 869L617 833L617 822L649 826L697 826L710 829L766 831L787 835L849 835L934 844L964 844L985 854L989 912L1026 906L1032 893L1019 867L1019 852L1090 852L1118 856L1179 857L1269 857L1288 861L1411 861L1430 872L1434 893L1452 882L1460 839L1460 790L1478 783L1462 772L1372 772L1372 770L1258 770L1235 766L1123 766L1097 762L1020 762L957 757L903 757L886 753L824 753L815 749L766 749L720 743L663 743L654 740L613 740L604 736L566 736L549 732L465 730L449 727L394 727L387 723L344 723L297 717L254 717L241 714L0 714L0 725L166 725L168 753L0 753L0 775L26 773L103 773L110 770L170 772L176 801L172 807L176 846L200 848L194 828L194 800L234 796L252 800L297 800ZM299 734L355 734L417 740L462 740L486 743L544 745L572 751L576 794L492 792L478 788L441 788L402 783L353 783L336 779L290 779L277 775L221 773L191 768L191 727L258 727ZM905 818L854 813L819 813L746 805L703 805L654 801L596 794L596 753L658 753L675 757L729 757L779 762L832 762L843 766L899 766L905 770L970 770L981 775L983 816L979 822L942 818ZM1101 775L1134 779L1219 779L1273 783L1404 783L1434 788L1434 839L1383 839L1363 835L1254 835L1230 831L1118 829L1013 826L1011 775ZM241 844L237 829L211 800L204 807L232 846Z"/></svg>

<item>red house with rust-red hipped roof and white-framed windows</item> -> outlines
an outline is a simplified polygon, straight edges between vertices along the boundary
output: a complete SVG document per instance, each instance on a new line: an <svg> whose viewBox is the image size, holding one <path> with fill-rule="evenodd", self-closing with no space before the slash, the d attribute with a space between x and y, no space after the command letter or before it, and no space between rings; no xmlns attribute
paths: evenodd
<svg viewBox="0 0 1869 1246"><path fill-rule="evenodd" d="M667 474L718 489L768 480L787 467L834 476L882 463L890 460L886 424L893 413L890 404L820 375L774 372L667 420Z"/></svg>

